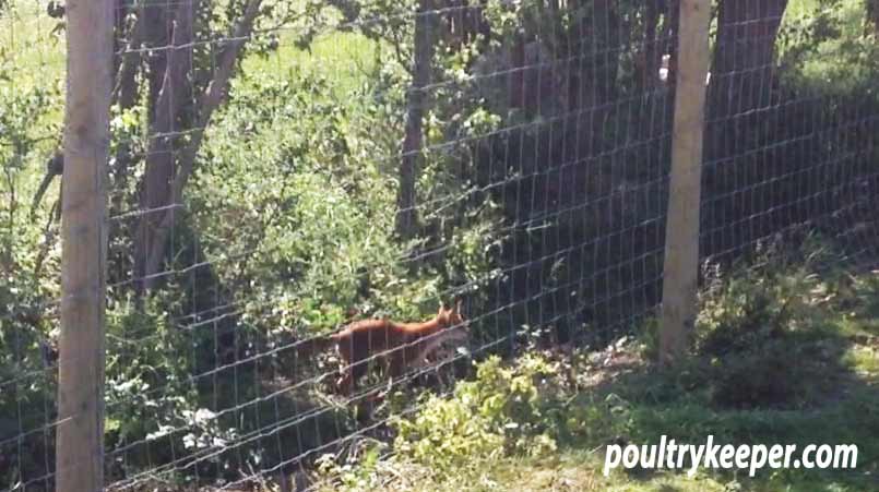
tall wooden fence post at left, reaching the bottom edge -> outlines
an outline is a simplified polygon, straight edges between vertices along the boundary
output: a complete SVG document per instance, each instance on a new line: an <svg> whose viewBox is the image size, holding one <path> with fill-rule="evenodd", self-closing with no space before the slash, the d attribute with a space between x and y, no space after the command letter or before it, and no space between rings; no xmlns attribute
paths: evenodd
<svg viewBox="0 0 879 492"><path fill-rule="evenodd" d="M67 1L56 490L104 488L104 305L112 0Z"/></svg>

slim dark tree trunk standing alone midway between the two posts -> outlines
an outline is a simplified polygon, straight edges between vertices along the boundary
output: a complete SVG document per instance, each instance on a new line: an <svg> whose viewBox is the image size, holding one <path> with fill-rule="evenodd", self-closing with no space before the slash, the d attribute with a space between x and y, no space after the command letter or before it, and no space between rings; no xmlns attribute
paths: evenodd
<svg viewBox="0 0 879 492"><path fill-rule="evenodd" d="M433 0L419 0L415 17L412 86L406 96L406 130L400 163L396 232L412 238L417 232L418 214L415 183L418 180L424 139L423 120L427 106L425 87L430 83L430 61L433 58L436 13Z"/></svg>

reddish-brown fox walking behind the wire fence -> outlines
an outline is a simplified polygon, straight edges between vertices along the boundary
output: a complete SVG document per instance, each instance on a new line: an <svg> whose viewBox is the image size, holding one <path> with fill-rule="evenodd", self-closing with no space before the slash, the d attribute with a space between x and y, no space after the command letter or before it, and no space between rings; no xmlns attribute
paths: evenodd
<svg viewBox="0 0 879 492"><path fill-rule="evenodd" d="M425 364L427 356L449 340L462 340L470 329L461 315L461 301L454 308L440 307L424 323L394 323L390 320L365 320L349 324L331 335L342 357L342 377L336 386L349 395L369 368L370 358L382 359L388 375L397 377L407 368Z"/></svg>

